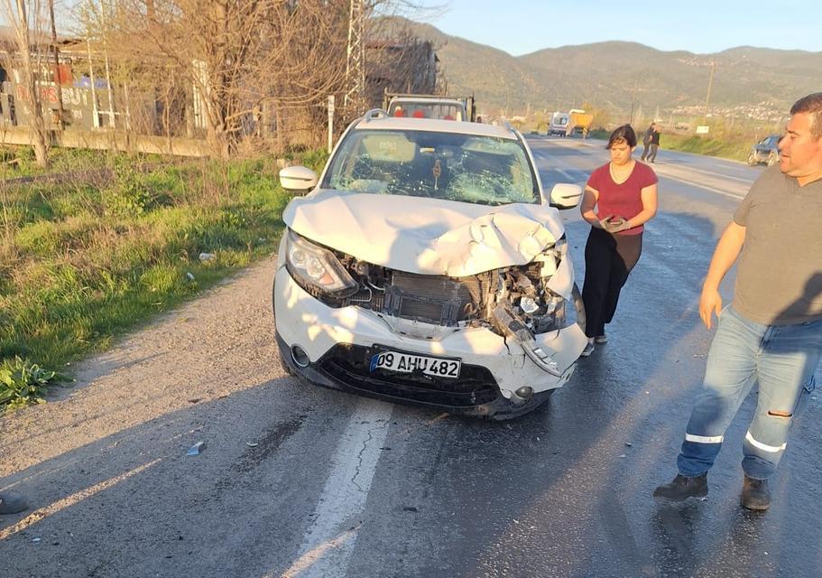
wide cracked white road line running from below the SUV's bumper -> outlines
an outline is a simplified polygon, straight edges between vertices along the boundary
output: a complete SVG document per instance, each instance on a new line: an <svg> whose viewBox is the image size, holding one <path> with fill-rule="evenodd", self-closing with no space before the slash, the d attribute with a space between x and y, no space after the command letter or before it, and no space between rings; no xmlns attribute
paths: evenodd
<svg viewBox="0 0 822 578"><path fill-rule="evenodd" d="M282 578L346 576L392 410L391 404L373 399L358 402L331 459L331 473L314 522L303 536L300 555Z"/></svg>

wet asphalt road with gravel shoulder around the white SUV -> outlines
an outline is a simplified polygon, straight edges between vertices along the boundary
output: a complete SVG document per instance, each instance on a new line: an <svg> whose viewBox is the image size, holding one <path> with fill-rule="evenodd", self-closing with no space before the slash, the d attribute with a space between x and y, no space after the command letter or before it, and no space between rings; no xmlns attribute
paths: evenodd
<svg viewBox="0 0 822 578"><path fill-rule="evenodd" d="M531 142L548 190L607 160L597 141ZM816 397L766 513L738 505L755 394L709 498L651 499L702 377L700 280L762 171L664 149L653 168L660 213L611 340L550 406L486 423L300 384L276 360L269 260L0 417L0 490L32 505L0 518L0 576L818 576ZM564 219L581 281L586 226Z"/></svg>

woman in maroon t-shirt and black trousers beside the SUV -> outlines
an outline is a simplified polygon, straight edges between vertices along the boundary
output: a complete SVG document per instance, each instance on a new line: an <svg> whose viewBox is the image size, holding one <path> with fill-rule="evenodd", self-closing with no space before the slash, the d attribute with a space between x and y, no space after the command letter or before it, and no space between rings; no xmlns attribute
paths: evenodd
<svg viewBox="0 0 822 578"><path fill-rule="evenodd" d="M642 254L643 225L657 212L657 175L650 166L631 158L636 134L630 125L611 133L606 147L611 162L591 173L580 210L591 225L585 246L585 284L588 344L605 343L605 323L614 318L619 292Z"/></svg>

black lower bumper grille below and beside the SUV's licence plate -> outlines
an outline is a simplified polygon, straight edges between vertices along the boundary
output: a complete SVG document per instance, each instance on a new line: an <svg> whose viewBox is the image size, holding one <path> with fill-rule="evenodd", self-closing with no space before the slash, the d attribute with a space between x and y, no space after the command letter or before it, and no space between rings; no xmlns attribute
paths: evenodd
<svg viewBox="0 0 822 578"><path fill-rule="evenodd" d="M373 348L341 343L321 359L319 366L329 377L347 387L417 403L455 407L482 406L499 396L494 376L487 368L463 364L460 377L453 380L429 378L421 372L372 372L369 370L369 362L376 352Z"/></svg>

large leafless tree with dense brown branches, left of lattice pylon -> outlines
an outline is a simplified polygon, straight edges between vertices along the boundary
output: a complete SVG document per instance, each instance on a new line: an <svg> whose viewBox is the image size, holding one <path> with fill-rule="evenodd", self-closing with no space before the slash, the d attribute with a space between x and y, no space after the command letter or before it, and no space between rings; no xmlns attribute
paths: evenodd
<svg viewBox="0 0 822 578"><path fill-rule="evenodd" d="M161 71L163 79L179 79L193 101L194 125L205 126L213 154L226 157L262 110L318 107L343 89L346 5L120 0L89 2L79 19L97 31L96 51L129 63L132 83L159 87Z"/></svg>

